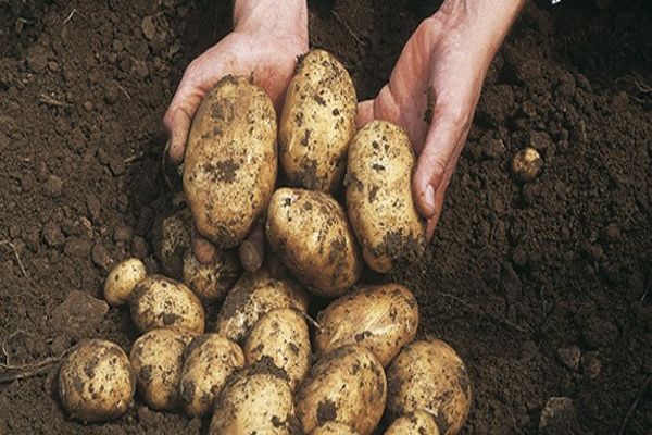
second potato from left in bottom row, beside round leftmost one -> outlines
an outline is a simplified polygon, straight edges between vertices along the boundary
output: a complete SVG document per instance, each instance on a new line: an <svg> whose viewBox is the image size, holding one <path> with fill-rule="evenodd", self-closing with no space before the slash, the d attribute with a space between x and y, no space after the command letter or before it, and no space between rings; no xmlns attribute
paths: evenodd
<svg viewBox="0 0 652 435"><path fill-rule="evenodd" d="M134 343L129 360L138 393L150 408L170 411L178 403L184 351L191 339L186 332L152 330Z"/></svg>

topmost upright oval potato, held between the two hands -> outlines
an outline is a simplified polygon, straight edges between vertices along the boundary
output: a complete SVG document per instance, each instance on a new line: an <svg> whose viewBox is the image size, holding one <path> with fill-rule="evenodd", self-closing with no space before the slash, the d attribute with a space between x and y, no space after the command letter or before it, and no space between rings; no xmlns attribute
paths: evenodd
<svg viewBox="0 0 652 435"><path fill-rule="evenodd" d="M291 186L322 191L341 186L356 108L353 82L333 54L311 50L300 59L278 129L279 160Z"/></svg>

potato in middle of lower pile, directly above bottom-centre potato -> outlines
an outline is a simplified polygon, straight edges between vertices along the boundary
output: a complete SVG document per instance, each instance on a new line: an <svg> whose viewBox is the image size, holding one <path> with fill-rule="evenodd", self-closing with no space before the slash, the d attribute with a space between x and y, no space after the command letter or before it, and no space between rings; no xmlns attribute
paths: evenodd
<svg viewBox="0 0 652 435"><path fill-rule="evenodd" d="M305 318L291 308L269 311L251 328L243 350L248 364L267 361L285 371L294 391L311 364Z"/></svg>

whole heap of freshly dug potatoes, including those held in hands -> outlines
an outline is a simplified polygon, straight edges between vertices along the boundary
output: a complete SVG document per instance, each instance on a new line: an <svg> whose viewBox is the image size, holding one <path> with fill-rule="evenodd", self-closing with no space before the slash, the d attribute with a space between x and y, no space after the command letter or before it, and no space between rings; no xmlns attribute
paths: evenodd
<svg viewBox="0 0 652 435"><path fill-rule="evenodd" d="M106 301L128 304L142 335L129 356L93 339L66 357L59 393L71 417L116 418L138 391L155 410L212 415L211 434L366 435L384 417L386 434L461 430L472 401L463 361L443 341L415 341L408 288L359 283L365 264L387 273L418 259L425 232L408 136L381 121L356 132L355 116L351 78L322 50L299 61L278 132L264 90L220 80L190 132L190 212L162 225L160 257L176 279L138 259L109 274ZM189 250L190 221L218 249L212 264ZM242 274L235 248L259 222L267 261L285 268ZM317 297L333 300L313 320Z"/></svg>

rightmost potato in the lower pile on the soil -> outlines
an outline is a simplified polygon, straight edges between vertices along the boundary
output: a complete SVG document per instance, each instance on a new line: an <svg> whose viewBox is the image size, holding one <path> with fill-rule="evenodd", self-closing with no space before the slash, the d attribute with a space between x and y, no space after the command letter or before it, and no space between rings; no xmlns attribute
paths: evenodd
<svg viewBox="0 0 652 435"><path fill-rule="evenodd" d="M442 435L460 432L471 409L471 380L462 359L437 339L403 348L387 370L387 409L398 418L424 410Z"/></svg>

